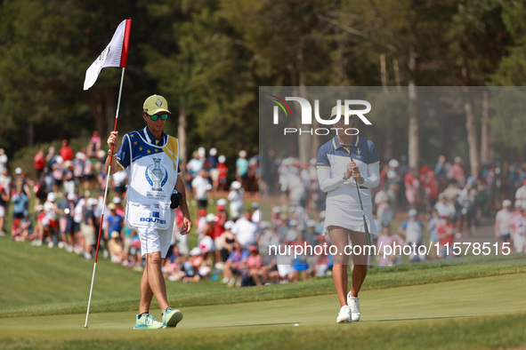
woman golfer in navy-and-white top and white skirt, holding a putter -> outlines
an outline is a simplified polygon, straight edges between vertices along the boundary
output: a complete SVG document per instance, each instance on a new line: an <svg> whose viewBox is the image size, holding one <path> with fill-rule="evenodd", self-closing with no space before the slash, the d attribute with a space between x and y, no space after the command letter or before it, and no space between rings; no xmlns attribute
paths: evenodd
<svg viewBox="0 0 526 350"><path fill-rule="evenodd" d="M340 120L335 124L336 136L320 147L317 168L320 188L327 192L324 227L332 244L331 253L335 260L333 279L341 306L336 322L343 323L360 320L358 292L368 270L367 231L356 182L360 187L368 232L376 235L369 188L378 186L380 176L375 145L368 139L344 132L352 133L349 128L355 122L354 116L351 115L350 124L345 125L344 106L336 106L332 108L332 118L338 117L338 107L341 110ZM351 254L354 265L352 288L347 294L347 266Z"/></svg>

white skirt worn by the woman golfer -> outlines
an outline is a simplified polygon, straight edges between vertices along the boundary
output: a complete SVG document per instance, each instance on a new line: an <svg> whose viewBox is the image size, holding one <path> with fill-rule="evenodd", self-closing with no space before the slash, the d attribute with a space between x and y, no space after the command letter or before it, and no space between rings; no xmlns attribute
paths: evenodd
<svg viewBox="0 0 526 350"><path fill-rule="evenodd" d="M378 230L373 219L371 192L368 188L360 188L360 195L368 232L377 235ZM325 213L324 228L337 226L365 233L360 201L355 186L344 185L328 192Z"/></svg>

